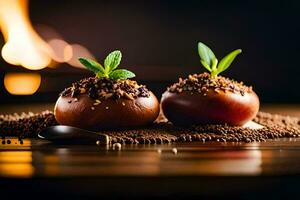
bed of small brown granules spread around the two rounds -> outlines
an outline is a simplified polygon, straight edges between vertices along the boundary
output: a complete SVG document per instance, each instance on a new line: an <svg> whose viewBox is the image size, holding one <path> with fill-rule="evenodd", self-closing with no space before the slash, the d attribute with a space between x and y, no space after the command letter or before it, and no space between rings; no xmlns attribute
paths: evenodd
<svg viewBox="0 0 300 200"><path fill-rule="evenodd" d="M300 119L259 112L255 122L264 126L250 129L228 125L204 125L176 127L160 117L152 126L133 130L102 131L112 143L121 144L163 144L172 142L215 141L215 142L263 142L267 139L300 137ZM21 115L0 115L0 136L37 138L37 134L48 126L56 125L50 111L22 113Z"/></svg>

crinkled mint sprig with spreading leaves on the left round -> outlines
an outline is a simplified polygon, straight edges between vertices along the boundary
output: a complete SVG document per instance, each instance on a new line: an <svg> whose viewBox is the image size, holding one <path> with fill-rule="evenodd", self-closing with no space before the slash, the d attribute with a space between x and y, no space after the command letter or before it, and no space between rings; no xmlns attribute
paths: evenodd
<svg viewBox="0 0 300 200"><path fill-rule="evenodd" d="M109 78L112 80L125 80L135 77L135 74L126 69L117 69L122 59L119 50L113 51L104 60L104 67L91 59L79 58L79 62L88 70L94 72L98 78Z"/></svg>

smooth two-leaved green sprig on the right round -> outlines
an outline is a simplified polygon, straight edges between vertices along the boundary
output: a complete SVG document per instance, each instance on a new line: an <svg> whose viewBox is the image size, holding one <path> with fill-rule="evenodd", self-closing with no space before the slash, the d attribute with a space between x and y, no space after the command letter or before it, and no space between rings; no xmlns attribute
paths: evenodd
<svg viewBox="0 0 300 200"><path fill-rule="evenodd" d="M218 62L215 54L208 46L202 42L198 43L200 62L210 72L212 77L216 77L218 74L228 69L235 57L241 52L241 49L234 50Z"/></svg>

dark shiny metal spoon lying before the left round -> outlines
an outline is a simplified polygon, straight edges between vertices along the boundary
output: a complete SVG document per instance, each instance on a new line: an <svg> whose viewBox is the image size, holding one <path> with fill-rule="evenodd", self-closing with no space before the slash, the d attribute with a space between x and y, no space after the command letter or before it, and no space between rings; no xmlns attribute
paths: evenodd
<svg viewBox="0 0 300 200"><path fill-rule="evenodd" d="M43 129L38 137L56 143L91 143L99 141L100 144L108 144L109 136L72 126L50 126Z"/></svg>

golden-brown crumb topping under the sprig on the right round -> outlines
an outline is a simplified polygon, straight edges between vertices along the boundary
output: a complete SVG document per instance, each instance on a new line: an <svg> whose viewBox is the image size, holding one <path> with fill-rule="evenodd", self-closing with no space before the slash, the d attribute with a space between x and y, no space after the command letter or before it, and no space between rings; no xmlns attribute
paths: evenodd
<svg viewBox="0 0 300 200"><path fill-rule="evenodd" d="M200 93L204 96L208 90L214 90L216 93L220 91L230 91L233 93L239 93L245 95L247 92L252 92L252 87L244 85L243 82L237 82L228 78L217 76L212 78L209 73L193 74L188 78L179 78L179 81L168 88L169 92L181 93L188 91L191 93Z"/></svg>

